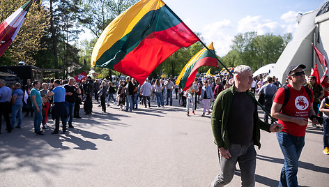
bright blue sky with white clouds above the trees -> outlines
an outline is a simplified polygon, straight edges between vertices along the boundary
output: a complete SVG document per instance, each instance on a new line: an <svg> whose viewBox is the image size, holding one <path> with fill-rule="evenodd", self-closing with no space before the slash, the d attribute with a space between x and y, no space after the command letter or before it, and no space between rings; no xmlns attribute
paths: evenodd
<svg viewBox="0 0 329 187"><path fill-rule="evenodd" d="M163 0L206 45L213 41L223 57L238 33L294 33L298 13L316 10L328 0ZM84 36L82 36L84 38Z"/></svg>

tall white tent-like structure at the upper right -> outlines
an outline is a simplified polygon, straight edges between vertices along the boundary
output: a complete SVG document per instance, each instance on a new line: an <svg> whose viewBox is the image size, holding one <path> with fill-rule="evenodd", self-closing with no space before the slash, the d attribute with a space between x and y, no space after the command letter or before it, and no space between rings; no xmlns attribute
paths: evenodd
<svg viewBox="0 0 329 187"><path fill-rule="evenodd" d="M277 77L281 82L286 79L286 69L289 66L303 63L306 66L305 73L309 75L311 68L318 60L314 53L312 43L328 59L326 50L329 50L329 1L316 10L304 13L297 17L298 27L293 34L293 40L286 45L275 68L270 76ZM318 67L320 64L318 62ZM319 70L320 76L323 74Z"/></svg>

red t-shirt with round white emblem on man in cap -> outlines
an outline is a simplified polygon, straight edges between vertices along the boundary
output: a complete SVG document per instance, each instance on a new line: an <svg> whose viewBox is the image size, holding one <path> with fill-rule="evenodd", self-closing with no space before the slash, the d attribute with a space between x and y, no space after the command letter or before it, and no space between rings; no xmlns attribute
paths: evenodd
<svg viewBox="0 0 329 187"><path fill-rule="evenodd" d="M302 87L299 91L296 89L293 89L290 84L288 84L288 87L290 89L290 98L288 100L288 103L283 107L281 113L286 114L291 117L303 117L306 120L308 120L308 112L311 108L311 103L313 103L314 96L313 91L311 90L311 98L309 98L309 95L307 94L305 87ZM284 102L284 88L280 88L277 90L277 93L275 94L275 98L273 100L275 103L278 103L280 105ZM279 124L282 124L282 132L288 133L290 135L294 136L304 136L306 127L307 126L300 126L293 122L288 121L278 121Z"/></svg>

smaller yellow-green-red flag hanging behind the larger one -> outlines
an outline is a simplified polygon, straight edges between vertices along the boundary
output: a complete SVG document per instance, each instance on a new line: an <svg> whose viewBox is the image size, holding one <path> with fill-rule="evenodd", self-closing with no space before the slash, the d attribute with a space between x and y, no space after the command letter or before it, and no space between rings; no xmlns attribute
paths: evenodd
<svg viewBox="0 0 329 187"><path fill-rule="evenodd" d="M185 67L179 74L176 84L183 89L183 91L188 90L193 84L194 78L197 75L197 69L201 66L218 66L217 59L213 57L215 50L213 49L213 43L207 46L209 50L204 47L201 51L186 63ZM213 54L211 54L211 52Z"/></svg>

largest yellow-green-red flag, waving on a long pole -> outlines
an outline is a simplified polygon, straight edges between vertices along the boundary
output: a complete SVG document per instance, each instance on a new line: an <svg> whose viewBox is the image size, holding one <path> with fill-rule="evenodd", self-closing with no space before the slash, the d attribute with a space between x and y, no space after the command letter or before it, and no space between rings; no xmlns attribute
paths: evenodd
<svg viewBox="0 0 329 187"><path fill-rule="evenodd" d="M176 50L198 40L163 1L141 0L102 32L91 66L112 68L142 83Z"/></svg>

